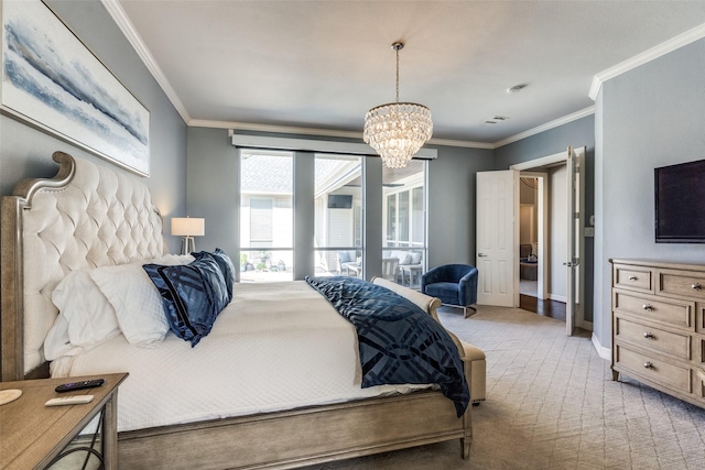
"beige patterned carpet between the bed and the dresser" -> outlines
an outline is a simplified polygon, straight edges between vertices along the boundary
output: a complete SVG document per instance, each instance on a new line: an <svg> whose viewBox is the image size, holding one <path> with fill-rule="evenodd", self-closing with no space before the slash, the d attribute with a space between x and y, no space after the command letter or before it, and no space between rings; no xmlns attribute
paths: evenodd
<svg viewBox="0 0 705 470"><path fill-rule="evenodd" d="M705 469L705 409L621 378L589 335L520 309L479 307L443 324L487 354L470 460L457 440L310 469Z"/></svg>

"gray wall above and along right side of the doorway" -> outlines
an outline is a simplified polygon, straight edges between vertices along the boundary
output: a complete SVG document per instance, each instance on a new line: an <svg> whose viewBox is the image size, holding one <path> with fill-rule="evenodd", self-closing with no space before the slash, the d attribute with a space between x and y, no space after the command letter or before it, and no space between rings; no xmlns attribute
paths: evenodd
<svg viewBox="0 0 705 470"><path fill-rule="evenodd" d="M540 134L531 135L495 150L495 168L564 152L568 145L585 146L585 215L586 225L595 214L595 116L588 116ZM594 319L594 238L585 238L585 319Z"/></svg>

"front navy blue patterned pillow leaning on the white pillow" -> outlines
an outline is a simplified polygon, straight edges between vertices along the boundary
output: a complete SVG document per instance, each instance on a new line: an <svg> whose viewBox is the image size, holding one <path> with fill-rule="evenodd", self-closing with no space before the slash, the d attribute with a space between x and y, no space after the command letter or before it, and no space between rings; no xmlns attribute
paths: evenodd
<svg viewBox="0 0 705 470"><path fill-rule="evenodd" d="M220 266L212 255L191 264L142 266L159 289L170 329L194 347L210 332L230 302Z"/></svg>

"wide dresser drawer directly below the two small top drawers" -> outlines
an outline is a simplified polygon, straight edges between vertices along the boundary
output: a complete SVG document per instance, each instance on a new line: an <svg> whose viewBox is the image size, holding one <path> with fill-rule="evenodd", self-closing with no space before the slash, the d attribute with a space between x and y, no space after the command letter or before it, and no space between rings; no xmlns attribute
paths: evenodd
<svg viewBox="0 0 705 470"><path fill-rule="evenodd" d="M616 310L628 311L653 321L693 330L695 303L665 300L652 295L612 291Z"/></svg>

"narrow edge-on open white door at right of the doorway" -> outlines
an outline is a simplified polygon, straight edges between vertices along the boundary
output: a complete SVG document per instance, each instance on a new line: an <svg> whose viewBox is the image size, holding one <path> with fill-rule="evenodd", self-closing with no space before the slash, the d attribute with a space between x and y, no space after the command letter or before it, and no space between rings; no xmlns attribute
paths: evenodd
<svg viewBox="0 0 705 470"><path fill-rule="evenodd" d="M585 147L567 150L567 260L563 263L567 267L565 329L568 336L577 323L583 318L583 288L585 243Z"/></svg>

